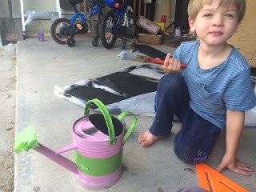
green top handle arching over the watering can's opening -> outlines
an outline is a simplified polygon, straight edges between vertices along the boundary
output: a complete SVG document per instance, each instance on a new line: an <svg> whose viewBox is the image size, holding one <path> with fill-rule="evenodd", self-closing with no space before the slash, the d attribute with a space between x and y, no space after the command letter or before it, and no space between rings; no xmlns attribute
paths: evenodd
<svg viewBox="0 0 256 192"><path fill-rule="evenodd" d="M84 114L85 115L90 114L90 105L91 105L92 102L96 106L98 106L98 109L102 112L102 115L105 118L106 126L108 128L108 133L109 133L109 137L110 137L110 145L115 144L116 137L115 137L115 134L114 134L114 125L113 125L113 122L112 122L112 118L110 116L109 111L106 109L106 106L100 100L98 100L98 98L94 98L94 99L89 100L88 102L86 102L85 113Z"/></svg>

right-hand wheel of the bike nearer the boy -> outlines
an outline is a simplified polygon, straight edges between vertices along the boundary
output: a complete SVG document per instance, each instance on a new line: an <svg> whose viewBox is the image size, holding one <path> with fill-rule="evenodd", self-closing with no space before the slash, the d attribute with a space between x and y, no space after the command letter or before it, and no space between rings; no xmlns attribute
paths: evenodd
<svg viewBox="0 0 256 192"><path fill-rule="evenodd" d="M138 26L136 25L136 22L138 18L132 11L126 12L126 26L122 26L121 33L125 38L138 38Z"/></svg>

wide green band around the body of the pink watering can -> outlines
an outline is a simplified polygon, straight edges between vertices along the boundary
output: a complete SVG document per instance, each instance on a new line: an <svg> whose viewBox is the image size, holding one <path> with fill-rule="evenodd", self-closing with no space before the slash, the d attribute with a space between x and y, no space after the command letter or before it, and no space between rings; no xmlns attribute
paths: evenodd
<svg viewBox="0 0 256 192"><path fill-rule="evenodd" d="M74 151L74 160L78 170L90 176L104 176L112 174L122 166L122 150L110 158L87 158Z"/></svg>

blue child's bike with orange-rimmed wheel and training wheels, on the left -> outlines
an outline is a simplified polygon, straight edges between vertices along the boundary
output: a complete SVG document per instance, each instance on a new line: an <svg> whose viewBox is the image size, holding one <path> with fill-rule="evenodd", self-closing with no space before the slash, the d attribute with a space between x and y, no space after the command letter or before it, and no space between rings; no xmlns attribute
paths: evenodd
<svg viewBox="0 0 256 192"><path fill-rule="evenodd" d="M66 0L66 2L73 7L74 15L70 19L57 18L50 26L51 37L59 44L67 44L72 47L75 45L75 35L86 34L88 32L89 27L86 20L95 14L98 14L98 22L95 25L96 36L92 41L93 46L98 46L98 29L102 18L102 8L106 6L105 3L102 0L89 0L94 6L82 14L78 11L75 5L83 2L83 0Z"/></svg>

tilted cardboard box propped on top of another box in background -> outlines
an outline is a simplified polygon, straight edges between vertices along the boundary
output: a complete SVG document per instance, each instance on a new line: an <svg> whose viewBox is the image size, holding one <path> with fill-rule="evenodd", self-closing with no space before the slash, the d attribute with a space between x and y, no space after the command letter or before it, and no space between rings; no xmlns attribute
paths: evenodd
<svg viewBox="0 0 256 192"><path fill-rule="evenodd" d="M160 26L143 17L142 15L139 16L137 25L150 32L150 34L158 34L158 31L160 30Z"/></svg>

